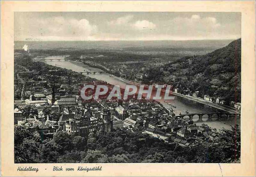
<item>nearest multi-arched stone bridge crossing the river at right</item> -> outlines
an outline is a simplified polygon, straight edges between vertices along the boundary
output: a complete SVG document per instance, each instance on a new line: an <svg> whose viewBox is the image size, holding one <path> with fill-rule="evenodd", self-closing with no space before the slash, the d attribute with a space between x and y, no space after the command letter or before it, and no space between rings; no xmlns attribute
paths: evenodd
<svg viewBox="0 0 256 177"><path fill-rule="evenodd" d="M241 113L230 113L230 112L209 112L209 113L191 113L191 114L180 114L177 118L189 118L190 120L198 119L195 122L212 121L215 120L229 120L230 118L241 117Z"/></svg>

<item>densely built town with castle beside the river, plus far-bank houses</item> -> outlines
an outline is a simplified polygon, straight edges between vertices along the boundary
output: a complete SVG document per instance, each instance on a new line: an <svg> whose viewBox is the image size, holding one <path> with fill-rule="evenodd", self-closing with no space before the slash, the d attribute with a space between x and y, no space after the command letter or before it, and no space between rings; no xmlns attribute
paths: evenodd
<svg viewBox="0 0 256 177"><path fill-rule="evenodd" d="M134 96L109 100L103 96L85 101L79 88L93 83L107 85L111 90L113 85L43 62L31 61L30 66L32 70L15 65L15 97L20 99L14 100L14 124L39 132L42 139L58 131L85 137L90 132L117 129L145 133L168 144L188 147L218 138L216 129L179 117L155 100L138 100ZM179 93L177 88L174 93ZM197 93L193 98L197 98ZM203 100L213 102L207 95ZM222 104L219 100L216 102ZM238 110L238 105L233 106Z"/></svg>

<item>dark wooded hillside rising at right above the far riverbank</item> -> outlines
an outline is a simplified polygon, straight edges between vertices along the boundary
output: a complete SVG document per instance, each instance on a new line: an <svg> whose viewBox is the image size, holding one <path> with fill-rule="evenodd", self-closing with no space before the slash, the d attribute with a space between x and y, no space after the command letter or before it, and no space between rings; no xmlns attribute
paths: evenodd
<svg viewBox="0 0 256 177"><path fill-rule="evenodd" d="M172 84L183 94L199 91L199 96L223 97L227 102L235 101L236 97L240 102L241 39L206 55L187 56L150 69L143 81Z"/></svg>

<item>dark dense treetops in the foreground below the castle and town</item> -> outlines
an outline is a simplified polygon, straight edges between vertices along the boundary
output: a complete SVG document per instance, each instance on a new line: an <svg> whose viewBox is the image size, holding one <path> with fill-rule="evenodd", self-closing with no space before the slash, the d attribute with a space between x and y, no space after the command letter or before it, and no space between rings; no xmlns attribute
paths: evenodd
<svg viewBox="0 0 256 177"><path fill-rule="evenodd" d="M217 143L216 143L217 142ZM175 146L148 134L126 130L86 137L58 131L40 136L14 127L15 163L232 163L240 162L240 128L222 129L215 143Z"/></svg>

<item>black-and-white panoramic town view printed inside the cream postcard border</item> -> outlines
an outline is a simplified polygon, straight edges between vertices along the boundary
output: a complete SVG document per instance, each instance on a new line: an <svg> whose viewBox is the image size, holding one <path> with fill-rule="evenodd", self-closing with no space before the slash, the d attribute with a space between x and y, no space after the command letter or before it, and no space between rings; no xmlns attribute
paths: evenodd
<svg viewBox="0 0 256 177"><path fill-rule="evenodd" d="M13 92L14 163L240 163L241 13L14 12Z"/></svg>

